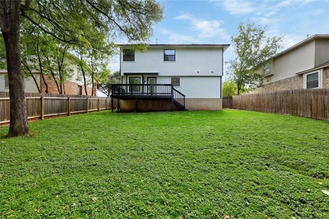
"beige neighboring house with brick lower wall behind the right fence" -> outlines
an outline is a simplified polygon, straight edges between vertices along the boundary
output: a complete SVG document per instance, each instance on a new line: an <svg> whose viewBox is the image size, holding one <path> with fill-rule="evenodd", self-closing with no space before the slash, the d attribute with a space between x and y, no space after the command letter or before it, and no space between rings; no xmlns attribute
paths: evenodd
<svg viewBox="0 0 329 219"><path fill-rule="evenodd" d="M329 88L329 34L310 36L274 55L258 73L264 75L264 86L252 93Z"/></svg>

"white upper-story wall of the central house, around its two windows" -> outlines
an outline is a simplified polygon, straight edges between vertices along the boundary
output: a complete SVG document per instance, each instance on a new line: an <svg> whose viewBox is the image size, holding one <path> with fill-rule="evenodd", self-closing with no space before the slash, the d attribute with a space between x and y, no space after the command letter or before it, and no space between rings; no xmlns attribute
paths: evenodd
<svg viewBox="0 0 329 219"><path fill-rule="evenodd" d="M164 61L164 49L175 49L175 61ZM222 50L222 47L149 47L146 52L135 51L133 62L124 62L121 52L121 75L158 73L160 76L221 76L223 75Z"/></svg>

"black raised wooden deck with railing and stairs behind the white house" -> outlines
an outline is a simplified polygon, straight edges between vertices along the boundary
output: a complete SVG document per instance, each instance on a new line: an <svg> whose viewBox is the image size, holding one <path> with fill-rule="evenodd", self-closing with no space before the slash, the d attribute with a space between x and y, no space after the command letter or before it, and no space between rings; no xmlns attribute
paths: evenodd
<svg viewBox="0 0 329 219"><path fill-rule="evenodd" d="M176 105L185 110L185 95L173 88L172 84L112 84L111 99L118 100L171 100L171 110ZM118 110L120 105L118 105ZM113 108L112 108L113 112Z"/></svg>

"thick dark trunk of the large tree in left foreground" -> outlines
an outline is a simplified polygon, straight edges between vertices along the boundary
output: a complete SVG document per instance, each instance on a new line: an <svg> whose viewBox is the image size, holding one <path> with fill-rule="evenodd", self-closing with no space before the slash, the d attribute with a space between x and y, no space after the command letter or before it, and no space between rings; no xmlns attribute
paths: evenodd
<svg viewBox="0 0 329 219"><path fill-rule="evenodd" d="M23 136L29 132L21 69L19 3L20 1L0 1L0 27L5 42L10 95L8 136Z"/></svg>

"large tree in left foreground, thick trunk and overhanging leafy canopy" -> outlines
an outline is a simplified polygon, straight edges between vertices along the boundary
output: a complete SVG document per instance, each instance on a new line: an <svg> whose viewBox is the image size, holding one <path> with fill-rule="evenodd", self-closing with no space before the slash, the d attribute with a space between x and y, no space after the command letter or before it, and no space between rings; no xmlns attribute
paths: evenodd
<svg viewBox="0 0 329 219"><path fill-rule="evenodd" d="M124 36L130 42L144 42L161 18L162 8L153 0L0 0L0 29L10 86L8 136L29 131L21 69L21 23L27 22L67 44L88 42L88 23L93 24L95 32L103 31L112 39Z"/></svg>

